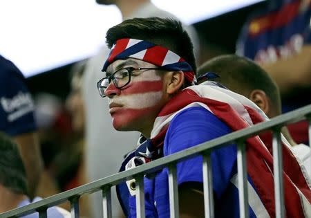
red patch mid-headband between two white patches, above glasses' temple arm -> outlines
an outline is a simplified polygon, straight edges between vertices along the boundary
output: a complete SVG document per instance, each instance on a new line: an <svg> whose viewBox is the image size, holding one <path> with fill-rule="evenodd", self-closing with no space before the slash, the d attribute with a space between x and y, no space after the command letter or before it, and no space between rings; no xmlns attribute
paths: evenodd
<svg viewBox="0 0 311 218"><path fill-rule="evenodd" d="M162 66L164 57L167 55L167 51L167 48L163 48L161 46L153 46L147 49L142 60L151 64L155 64L157 66Z"/></svg>

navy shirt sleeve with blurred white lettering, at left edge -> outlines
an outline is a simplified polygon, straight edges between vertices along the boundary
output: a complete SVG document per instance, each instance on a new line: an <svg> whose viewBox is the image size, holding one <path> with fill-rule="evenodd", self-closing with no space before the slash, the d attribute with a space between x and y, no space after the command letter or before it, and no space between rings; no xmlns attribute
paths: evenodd
<svg viewBox="0 0 311 218"><path fill-rule="evenodd" d="M16 136L36 129L34 106L17 66L0 55L0 131Z"/></svg>

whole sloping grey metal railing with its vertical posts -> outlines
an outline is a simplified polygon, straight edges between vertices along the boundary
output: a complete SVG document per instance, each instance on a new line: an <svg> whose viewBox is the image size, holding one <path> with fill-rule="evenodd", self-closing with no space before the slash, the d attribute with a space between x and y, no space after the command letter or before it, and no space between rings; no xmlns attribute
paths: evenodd
<svg viewBox="0 0 311 218"><path fill-rule="evenodd" d="M281 154L281 127L299 120L308 120L309 123L309 143L311 143L311 105L296 109L289 113L285 113L276 118L272 118L267 122L261 122L252 127L234 131L220 138L210 140L207 143L202 143L196 147L185 149L176 154L165 156L148 164L140 165L131 170L126 170L112 176L99 179L97 181L79 186L72 190L55 194L52 197L42 199L35 203L30 203L27 206L16 208L8 212L0 214L3 217L19 217L21 215L29 215L33 212L39 212L39 217L47 217L47 209L52 206L57 206L64 201L70 201L71 217L79 217L79 197L84 194L91 194L93 192L102 192L102 210L104 217L112 217L111 210L111 187L118 183L125 182L129 179L136 180L136 210L137 217L144 217L144 174L152 174L163 167L169 167L169 202L171 218L179 217L178 211L178 185L176 182L176 163L180 160L190 158L196 155L203 156L203 188L205 201L205 217L214 217L214 201L213 201L213 187L211 181L211 151L213 149L224 147L228 143L236 143L238 147L238 190L240 201L240 217L249 217L248 211L248 197L247 197L247 169L245 160L245 139L254 136L260 132L270 129L273 134L273 154L274 154L274 185L275 185L275 199L276 199L276 217L285 217L284 210L284 192L283 192L283 160ZM311 169L311 165L308 166Z"/></svg>

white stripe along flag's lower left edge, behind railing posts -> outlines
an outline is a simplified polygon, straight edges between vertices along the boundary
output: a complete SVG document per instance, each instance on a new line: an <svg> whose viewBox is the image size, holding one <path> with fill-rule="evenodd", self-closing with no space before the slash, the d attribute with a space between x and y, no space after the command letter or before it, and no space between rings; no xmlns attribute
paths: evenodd
<svg viewBox="0 0 311 218"><path fill-rule="evenodd" d="M230 179L230 181L234 184L234 186L236 186L236 188L238 188L238 174L232 176L232 179ZM263 206L263 202L261 202L261 199L254 190L253 186L249 183L249 181L247 181L247 191L249 206L252 208L256 217L269 218L269 213L265 209L265 206Z"/></svg>

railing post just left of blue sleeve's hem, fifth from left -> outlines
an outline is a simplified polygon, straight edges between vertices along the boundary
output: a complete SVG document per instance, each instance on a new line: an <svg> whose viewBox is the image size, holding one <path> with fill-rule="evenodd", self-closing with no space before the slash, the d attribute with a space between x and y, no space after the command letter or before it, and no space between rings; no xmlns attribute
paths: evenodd
<svg viewBox="0 0 311 218"><path fill-rule="evenodd" d="M169 213L171 218L179 218L176 163L169 165Z"/></svg>

